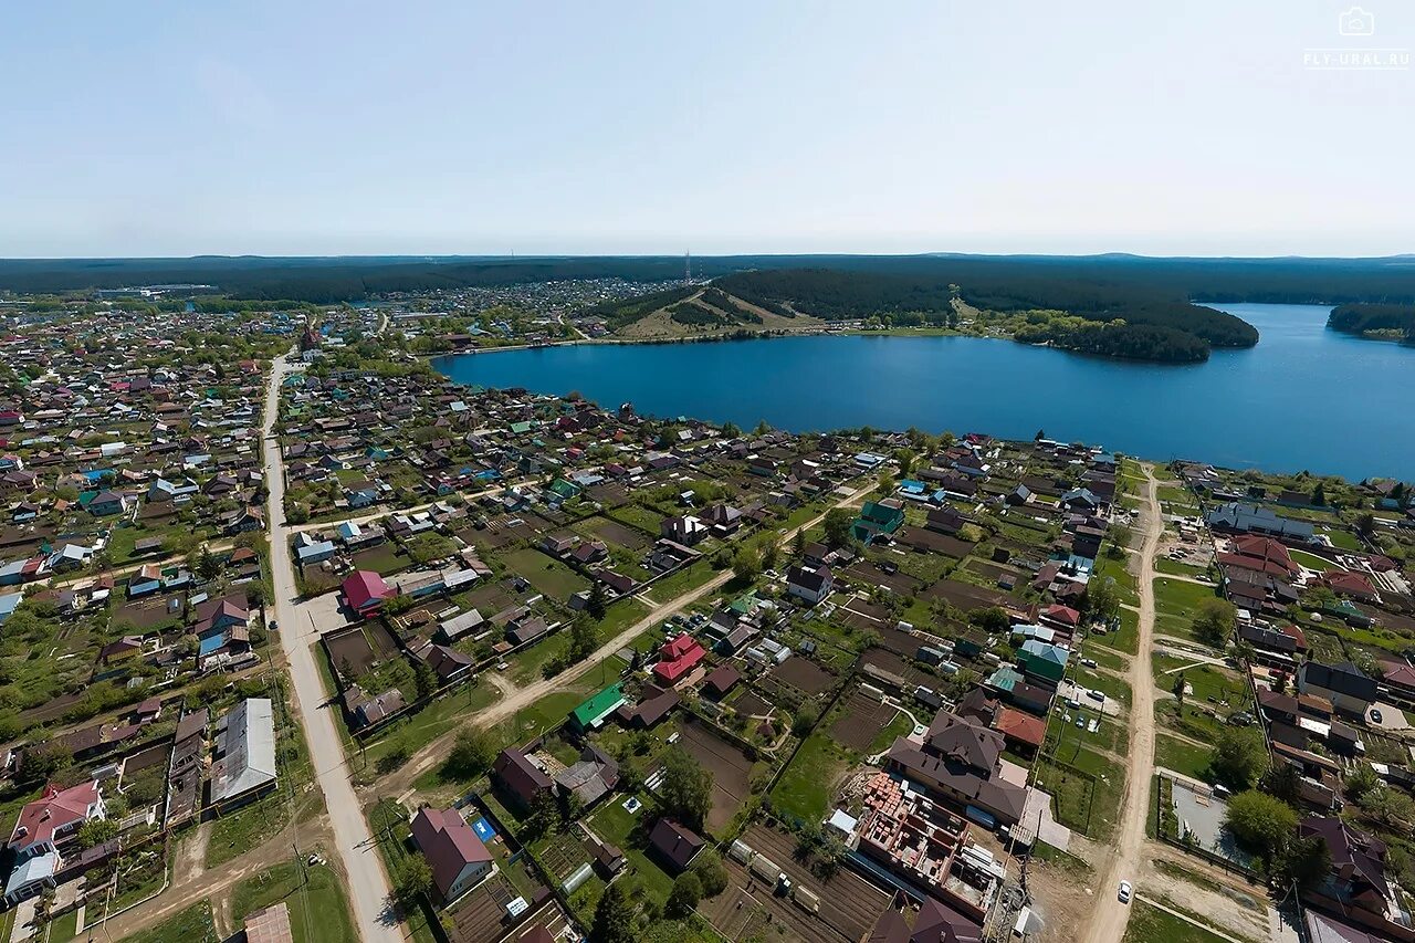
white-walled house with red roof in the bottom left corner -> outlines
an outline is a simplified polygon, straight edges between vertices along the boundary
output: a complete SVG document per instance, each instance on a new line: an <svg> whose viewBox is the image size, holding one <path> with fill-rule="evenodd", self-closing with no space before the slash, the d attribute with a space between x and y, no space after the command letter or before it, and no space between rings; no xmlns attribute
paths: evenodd
<svg viewBox="0 0 1415 943"><path fill-rule="evenodd" d="M68 852L65 845L83 823L105 816L103 790L96 780L69 789L50 784L41 799L27 803L6 842L6 850L14 857L4 885L6 903L14 905L47 886L52 888Z"/></svg>

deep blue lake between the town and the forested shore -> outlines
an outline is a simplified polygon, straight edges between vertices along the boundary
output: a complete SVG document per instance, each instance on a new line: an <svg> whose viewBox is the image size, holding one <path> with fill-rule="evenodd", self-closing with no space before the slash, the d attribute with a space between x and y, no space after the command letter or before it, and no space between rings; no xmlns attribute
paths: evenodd
<svg viewBox="0 0 1415 943"><path fill-rule="evenodd" d="M1326 330L1327 306L1213 304L1262 334L1203 364L1082 357L981 337L582 344L439 357L464 384L572 389L647 415L1084 440L1347 479L1415 477L1415 350Z"/></svg>

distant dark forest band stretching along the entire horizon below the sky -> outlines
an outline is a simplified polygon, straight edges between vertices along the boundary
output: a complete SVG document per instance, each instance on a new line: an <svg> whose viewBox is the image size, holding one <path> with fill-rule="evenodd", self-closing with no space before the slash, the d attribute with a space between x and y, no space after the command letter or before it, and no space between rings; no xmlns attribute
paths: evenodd
<svg viewBox="0 0 1415 943"><path fill-rule="evenodd" d="M1415 258L1385 259L1159 259L1131 255L739 255L695 258L693 273L822 269L896 276L904 285L959 285L972 292L1032 297L1041 287L1084 286L1107 299L1146 296L1167 302L1351 302L1415 304ZM362 300L389 292L516 285L556 279L621 278L662 282L682 275L676 256L197 256L190 259L0 259L0 290L82 292L139 285L214 285L241 299ZM904 286L897 286L904 290ZM1050 292L1049 292L1050 293ZM737 295L778 314L767 297Z"/></svg>

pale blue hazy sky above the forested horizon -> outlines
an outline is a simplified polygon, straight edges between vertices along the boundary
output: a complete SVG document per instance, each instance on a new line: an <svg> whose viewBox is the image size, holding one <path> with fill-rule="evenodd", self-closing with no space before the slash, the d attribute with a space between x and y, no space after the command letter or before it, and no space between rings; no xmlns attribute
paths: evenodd
<svg viewBox="0 0 1415 943"><path fill-rule="evenodd" d="M1415 252L1348 6L7 3L0 256Z"/></svg>

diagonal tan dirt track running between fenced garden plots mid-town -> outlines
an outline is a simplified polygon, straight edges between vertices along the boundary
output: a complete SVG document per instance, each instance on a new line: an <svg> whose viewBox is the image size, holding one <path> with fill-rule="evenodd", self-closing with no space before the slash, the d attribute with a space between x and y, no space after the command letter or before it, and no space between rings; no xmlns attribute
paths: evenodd
<svg viewBox="0 0 1415 943"><path fill-rule="evenodd" d="M872 484L859 486L857 488L850 491L849 496L832 504L831 508L850 507L853 504L857 504L862 500L862 496L870 487ZM818 514L816 517L811 518L801 527L784 534L778 542L781 545L788 544L791 538L795 537L798 530L799 531L811 530L825 518L826 513ZM679 612L688 609L699 599L717 592L717 589L720 589L722 585L726 583L729 579L732 579L730 569L719 573L717 576L713 576L710 581L708 581L698 589L692 589L675 599L668 600L666 603L658 605L647 616L644 616L633 626L630 626L620 634L614 636L613 639L601 644L599 651L596 651L590 657L584 658L583 661L570 668L566 668L553 678L545 678L541 681L535 681L533 684L529 684L524 688L516 688L515 692L511 694L509 697L502 698L501 701L487 708L485 711L478 711L474 718L474 722L478 726L492 726L509 716L514 716L518 711L531 707L532 704L546 697L548 694L553 694L555 691L567 687L572 681L574 681L580 675L587 674L589 671L593 671L596 667L599 667L601 660L610 657L624 646L634 641L634 639L648 631L651 627L654 627L654 624L664 622L665 619L671 619L672 616L676 616ZM640 600L642 600L642 596L640 596ZM485 673L485 674L494 674L494 673ZM492 684L497 682L492 681ZM403 766L398 772L378 780L378 783L375 784L378 793L381 796L402 796L403 793L412 790L413 782L416 782L419 776L437 766L447 756L449 748L451 746L453 741L457 739L457 729L458 728L453 728L447 733L443 733L432 743L413 753L413 756L406 763L403 763ZM372 787L374 786L371 786L369 789Z"/></svg>

